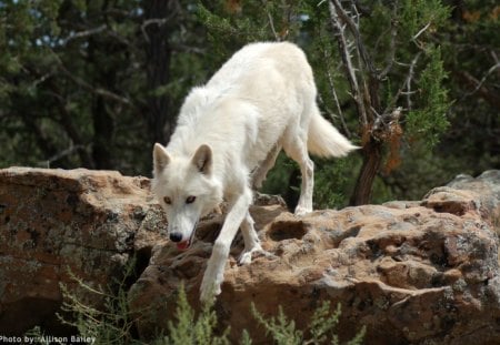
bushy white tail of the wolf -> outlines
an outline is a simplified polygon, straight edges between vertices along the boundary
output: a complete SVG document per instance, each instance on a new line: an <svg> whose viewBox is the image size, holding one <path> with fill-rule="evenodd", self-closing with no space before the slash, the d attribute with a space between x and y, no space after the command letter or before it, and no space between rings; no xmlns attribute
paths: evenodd
<svg viewBox="0 0 500 345"><path fill-rule="evenodd" d="M359 146L351 144L316 109L309 123L308 151L310 153L323 158L344 156L357 149Z"/></svg>

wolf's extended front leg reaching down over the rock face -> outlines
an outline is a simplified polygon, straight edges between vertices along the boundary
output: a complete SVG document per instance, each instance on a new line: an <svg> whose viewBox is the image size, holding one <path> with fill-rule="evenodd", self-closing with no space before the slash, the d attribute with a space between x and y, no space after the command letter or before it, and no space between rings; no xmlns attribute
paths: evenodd
<svg viewBox="0 0 500 345"><path fill-rule="evenodd" d="M232 202L230 200L232 206L226 216L224 224L213 244L212 255L208 261L207 270L204 271L203 280L201 282L201 302L210 301L210 298L220 294L220 284L224 277L224 267L229 250L241 222L248 213L251 201L252 192L248 186L243 187L241 194L234 195Z"/></svg>

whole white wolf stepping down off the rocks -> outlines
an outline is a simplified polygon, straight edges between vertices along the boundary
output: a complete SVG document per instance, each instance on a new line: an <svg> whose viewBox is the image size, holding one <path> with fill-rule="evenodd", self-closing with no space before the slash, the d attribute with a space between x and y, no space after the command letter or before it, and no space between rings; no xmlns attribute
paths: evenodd
<svg viewBox="0 0 500 345"><path fill-rule="evenodd" d="M200 287L201 301L220 293L232 240L241 227L251 262L262 251L249 213L259 187L284 150L302 174L296 214L312 211L313 163L357 149L318 110L317 90L304 53L292 43L252 43L227 61L204 87L192 89L167 148L154 145L152 189L180 250L194 237L200 216L223 200L228 214Z"/></svg>

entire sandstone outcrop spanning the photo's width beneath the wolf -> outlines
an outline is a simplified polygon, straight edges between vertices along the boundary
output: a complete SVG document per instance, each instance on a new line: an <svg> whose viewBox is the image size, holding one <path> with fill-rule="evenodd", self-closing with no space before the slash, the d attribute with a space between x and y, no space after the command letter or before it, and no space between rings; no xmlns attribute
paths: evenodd
<svg viewBox="0 0 500 345"><path fill-rule="evenodd" d="M341 337L367 326L369 344L500 342L500 172L459 176L419 202L316 211L297 217L279 200L259 199L251 213L264 250L238 266L237 237L216 311L239 339L250 316L278 305L303 326L322 301L341 303ZM187 252L162 240L166 229L149 181L116 172L0 171L0 334L53 326L59 283L110 285L132 254L129 292L139 335L166 327L183 282L192 305L222 214L200 222ZM89 300L99 305L99 301Z"/></svg>

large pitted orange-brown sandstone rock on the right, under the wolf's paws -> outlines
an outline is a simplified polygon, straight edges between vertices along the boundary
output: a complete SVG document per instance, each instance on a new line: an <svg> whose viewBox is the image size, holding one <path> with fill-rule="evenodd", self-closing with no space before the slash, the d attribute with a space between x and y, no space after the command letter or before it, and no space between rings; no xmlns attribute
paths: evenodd
<svg viewBox="0 0 500 345"><path fill-rule="evenodd" d="M250 316L281 305L304 326L321 301L341 303L341 336L367 326L369 344L499 344L498 234L500 172L460 176L422 202L317 211L303 217L280 205L253 206L262 246L274 255L238 266L237 239L216 304L236 342L248 329L269 343ZM143 337L166 327L183 282L192 304L223 217L202 222L184 253L164 243L130 291Z"/></svg>

